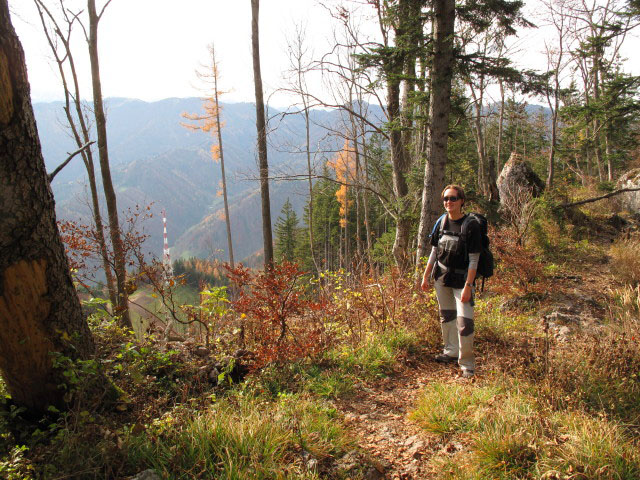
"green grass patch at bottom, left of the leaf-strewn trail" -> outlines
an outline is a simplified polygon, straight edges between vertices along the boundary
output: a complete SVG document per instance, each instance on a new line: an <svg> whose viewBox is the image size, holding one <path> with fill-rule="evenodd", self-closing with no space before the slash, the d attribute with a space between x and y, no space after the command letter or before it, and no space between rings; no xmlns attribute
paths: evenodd
<svg viewBox="0 0 640 480"><path fill-rule="evenodd" d="M129 462L168 478L313 479L304 450L322 461L351 448L334 409L299 395L237 395L205 411L180 408L127 439Z"/></svg>

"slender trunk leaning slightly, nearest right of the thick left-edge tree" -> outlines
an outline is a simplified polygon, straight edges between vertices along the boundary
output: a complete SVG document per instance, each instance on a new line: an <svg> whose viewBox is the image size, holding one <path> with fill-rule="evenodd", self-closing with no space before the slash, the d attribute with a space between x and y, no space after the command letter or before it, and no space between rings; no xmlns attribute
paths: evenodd
<svg viewBox="0 0 640 480"><path fill-rule="evenodd" d="M104 11L104 10L103 10ZM89 60L91 62L91 84L93 87L93 111L96 116L96 131L98 133L98 154L100 156L100 172L104 196L107 201L107 213L109 216L109 233L113 246L116 286L118 289L118 305L116 312L120 315L121 323L131 328L129 318L129 295L127 294L127 270L124 258L124 247L120 235L118 221L118 205L116 192L111 181L111 169L109 167L109 150L107 148L107 119L104 115L102 104L102 85L100 83L100 62L98 60L98 22L100 16L96 12L95 0L88 0L89 12ZM102 14L101 14L102 15Z"/></svg>

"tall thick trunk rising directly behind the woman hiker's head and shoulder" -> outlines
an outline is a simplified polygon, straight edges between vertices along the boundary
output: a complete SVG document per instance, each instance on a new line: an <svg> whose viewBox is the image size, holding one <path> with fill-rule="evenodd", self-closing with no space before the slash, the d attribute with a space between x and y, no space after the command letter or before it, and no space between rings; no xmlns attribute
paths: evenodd
<svg viewBox="0 0 640 480"><path fill-rule="evenodd" d="M453 33L455 0L436 0L434 7L434 52L431 72L429 149L422 187L422 210L418 226L416 265L427 253L427 236L442 211L440 192L444 188L447 165L451 78L453 74Z"/></svg>

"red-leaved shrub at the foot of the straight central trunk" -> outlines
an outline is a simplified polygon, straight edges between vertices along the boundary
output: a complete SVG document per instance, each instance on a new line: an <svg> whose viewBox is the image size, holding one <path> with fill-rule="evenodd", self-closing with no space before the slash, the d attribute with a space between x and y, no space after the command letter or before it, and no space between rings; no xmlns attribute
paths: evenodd
<svg viewBox="0 0 640 480"><path fill-rule="evenodd" d="M225 267L235 286L232 305L241 317L241 337L256 367L313 356L324 350L324 304L309 298L305 272L284 261L268 271Z"/></svg>

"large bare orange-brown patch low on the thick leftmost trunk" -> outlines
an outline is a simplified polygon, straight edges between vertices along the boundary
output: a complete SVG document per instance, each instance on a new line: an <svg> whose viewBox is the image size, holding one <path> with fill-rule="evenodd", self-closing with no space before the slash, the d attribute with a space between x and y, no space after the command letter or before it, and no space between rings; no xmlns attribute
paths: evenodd
<svg viewBox="0 0 640 480"><path fill-rule="evenodd" d="M0 274L0 370L14 400L29 406L57 393L47 318L46 261L21 260Z"/></svg>

